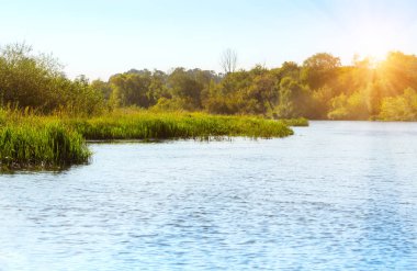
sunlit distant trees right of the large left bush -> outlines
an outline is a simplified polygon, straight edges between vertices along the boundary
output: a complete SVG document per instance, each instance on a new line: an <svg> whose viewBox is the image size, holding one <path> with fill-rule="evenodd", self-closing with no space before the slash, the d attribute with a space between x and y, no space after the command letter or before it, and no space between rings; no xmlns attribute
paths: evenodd
<svg viewBox="0 0 417 271"><path fill-rule="evenodd" d="M225 74L177 68L129 70L91 83L109 106L260 115L273 118L417 121L417 57L394 52L381 63L316 54L303 65L256 66ZM407 93L405 93L405 91ZM406 100L406 101L405 101Z"/></svg>

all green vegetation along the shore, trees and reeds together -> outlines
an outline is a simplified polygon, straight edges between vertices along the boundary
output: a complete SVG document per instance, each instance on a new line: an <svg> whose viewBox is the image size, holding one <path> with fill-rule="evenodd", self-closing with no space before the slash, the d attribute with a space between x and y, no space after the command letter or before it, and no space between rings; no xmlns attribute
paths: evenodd
<svg viewBox="0 0 417 271"><path fill-rule="evenodd" d="M29 46L0 48L0 167L82 163L91 155L86 139L269 138L306 118L417 121L414 55L341 66L316 54L303 65L250 70L236 70L236 57L224 55L225 74L132 69L90 82L68 79L56 59Z"/></svg>

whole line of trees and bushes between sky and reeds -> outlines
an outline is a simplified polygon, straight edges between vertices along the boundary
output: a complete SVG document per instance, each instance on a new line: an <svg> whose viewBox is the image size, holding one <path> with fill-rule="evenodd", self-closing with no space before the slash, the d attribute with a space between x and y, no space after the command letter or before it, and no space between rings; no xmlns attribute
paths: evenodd
<svg viewBox="0 0 417 271"><path fill-rule="evenodd" d="M132 69L109 80L68 79L58 61L33 55L25 45L0 54L2 106L42 113L100 114L116 108L253 114L274 118L417 121L417 57L388 53L383 61L340 59L319 53L298 65L236 70L236 55L224 74L174 68ZM226 59L230 60L230 59Z"/></svg>

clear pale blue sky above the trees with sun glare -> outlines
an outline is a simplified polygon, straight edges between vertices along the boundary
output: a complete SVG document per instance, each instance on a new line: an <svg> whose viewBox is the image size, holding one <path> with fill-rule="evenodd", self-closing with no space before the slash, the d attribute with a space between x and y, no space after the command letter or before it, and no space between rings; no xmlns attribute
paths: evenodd
<svg viewBox="0 0 417 271"><path fill-rule="evenodd" d="M279 67L330 53L348 65L417 53L415 0L0 0L0 46L50 53L74 78L174 67Z"/></svg>

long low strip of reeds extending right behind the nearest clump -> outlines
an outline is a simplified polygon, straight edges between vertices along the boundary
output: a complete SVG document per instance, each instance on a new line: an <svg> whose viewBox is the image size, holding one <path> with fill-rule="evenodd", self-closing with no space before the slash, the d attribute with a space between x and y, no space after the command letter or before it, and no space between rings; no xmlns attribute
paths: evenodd
<svg viewBox="0 0 417 271"><path fill-rule="evenodd" d="M204 113L115 112L92 118L68 118L66 125L89 140L207 137L284 137L293 132L283 122L253 116Z"/></svg>

